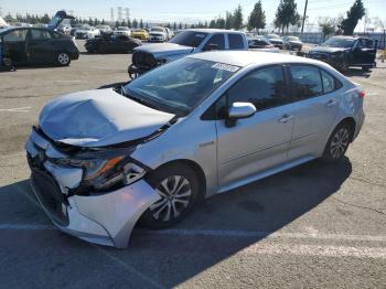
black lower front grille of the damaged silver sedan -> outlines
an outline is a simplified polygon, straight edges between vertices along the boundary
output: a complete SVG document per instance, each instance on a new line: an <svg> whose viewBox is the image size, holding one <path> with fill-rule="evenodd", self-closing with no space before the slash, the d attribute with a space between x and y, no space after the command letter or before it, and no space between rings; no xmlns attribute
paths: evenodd
<svg viewBox="0 0 386 289"><path fill-rule="evenodd" d="M39 201L49 211L55 223L67 226L69 223L66 211L67 201L58 184L45 171L33 165L31 165L31 183Z"/></svg>

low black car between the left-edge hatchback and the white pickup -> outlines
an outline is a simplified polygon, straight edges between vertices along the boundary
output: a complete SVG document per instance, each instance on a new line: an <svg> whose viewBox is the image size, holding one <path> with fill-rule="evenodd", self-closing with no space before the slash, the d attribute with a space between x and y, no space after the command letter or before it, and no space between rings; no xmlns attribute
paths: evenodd
<svg viewBox="0 0 386 289"><path fill-rule="evenodd" d="M132 53L132 50L140 45L142 45L140 40L106 33L85 43L88 53Z"/></svg>

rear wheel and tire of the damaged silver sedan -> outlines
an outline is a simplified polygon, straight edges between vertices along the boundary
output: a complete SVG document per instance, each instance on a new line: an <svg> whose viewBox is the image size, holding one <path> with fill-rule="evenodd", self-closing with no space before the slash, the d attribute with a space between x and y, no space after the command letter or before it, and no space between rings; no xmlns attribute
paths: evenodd
<svg viewBox="0 0 386 289"><path fill-rule="evenodd" d="M325 162L335 162L343 159L352 137L352 127L347 122L340 124L331 133L325 144L322 160Z"/></svg>

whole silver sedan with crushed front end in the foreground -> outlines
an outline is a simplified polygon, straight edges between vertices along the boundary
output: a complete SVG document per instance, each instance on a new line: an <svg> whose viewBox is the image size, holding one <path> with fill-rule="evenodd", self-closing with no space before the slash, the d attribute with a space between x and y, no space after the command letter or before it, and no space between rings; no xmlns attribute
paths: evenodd
<svg viewBox="0 0 386 289"><path fill-rule="evenodd" d="M194 54L116 89L42 110L25 144L31 184L62 231L124 248L202 199L307 161L337 161L364 93L328 64L266 52Z"/></svg>

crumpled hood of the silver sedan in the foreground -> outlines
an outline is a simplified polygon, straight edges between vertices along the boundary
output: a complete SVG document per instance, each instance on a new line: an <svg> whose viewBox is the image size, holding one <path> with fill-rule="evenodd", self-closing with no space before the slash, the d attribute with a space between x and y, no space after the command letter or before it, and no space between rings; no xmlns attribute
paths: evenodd
<svg viewBox="0 0 386 289"><path fill-rule="evenodd" d="M50 101L40 115L39 125L55 141L93 148L146 138L173 117L108 88Z"/></svg>

